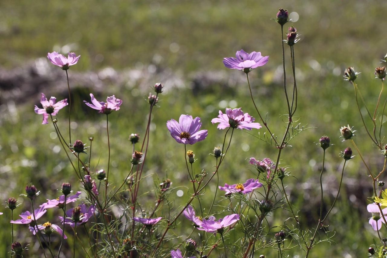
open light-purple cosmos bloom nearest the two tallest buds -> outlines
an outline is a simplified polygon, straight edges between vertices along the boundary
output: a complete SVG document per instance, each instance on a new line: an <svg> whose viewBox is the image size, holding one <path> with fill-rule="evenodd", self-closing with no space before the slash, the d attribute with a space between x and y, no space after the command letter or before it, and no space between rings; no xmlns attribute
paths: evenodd
<svg viewBox="0 0 387 258"><path fill-rule="evenodd" d="M262 57L261 52L253 51L251 53L246 53L243 49L241 51L237 51L235 56L236 58L223 58L224 66L230 69L238 69L245 73L248 73L259 66L265 65L269 60L269 56Z"/></svg>

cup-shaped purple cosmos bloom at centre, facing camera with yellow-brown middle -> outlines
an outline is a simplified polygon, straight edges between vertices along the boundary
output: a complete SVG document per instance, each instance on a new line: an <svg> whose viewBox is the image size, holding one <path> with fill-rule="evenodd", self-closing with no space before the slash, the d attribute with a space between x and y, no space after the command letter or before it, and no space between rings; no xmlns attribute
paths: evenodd
<svg viewBox="0 0 387 258"><path fill-rule="evenodd" d="M167 122L167 128L171 132L171 136L178 143L194 144L198 141L203 141L207 137L207 130L200 130L202 123L200 117L192 119L192 115L180 115L179 122L171 119Z"/></svg>

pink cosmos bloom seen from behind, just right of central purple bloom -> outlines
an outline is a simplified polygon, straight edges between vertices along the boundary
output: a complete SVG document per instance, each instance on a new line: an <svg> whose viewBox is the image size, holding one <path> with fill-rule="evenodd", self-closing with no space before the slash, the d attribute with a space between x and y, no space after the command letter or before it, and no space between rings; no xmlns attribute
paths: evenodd
<svg viewBox="0 0 387 258"><path fill-rule="evenodd" d="M253 123L255 118L250 116L248 113L243 113L241 108L226 108L226 114L223 114L219 110L219 115L212 119L212 124L219 123L218 129L226 129L227 127L238 128L238 129L247 129L251 130L253 128L259 129L262 126L259 123Z"/></svg>

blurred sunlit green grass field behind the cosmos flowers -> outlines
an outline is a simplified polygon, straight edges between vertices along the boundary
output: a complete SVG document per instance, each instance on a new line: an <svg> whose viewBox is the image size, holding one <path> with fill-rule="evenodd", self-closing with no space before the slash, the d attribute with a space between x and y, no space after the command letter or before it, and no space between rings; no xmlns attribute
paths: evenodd
<svg viewBox="0 0 387 258"><path fill-rule="evenodd" d="M293 177L286 177L288 193L303 228L315 227L319 212L319 172L322 149L315 143L327 134L335 144L327 150L323 186L324 203L329 207L337 193L343 160L340 151L351 146L341 142L339 128L354 126L355 141L373 171L380 171L384 157L372 146L360 121L354 101L353 86L342 75L348 66L361 72L357 79L361 93L374 110L381 89L374 79L375 67L382 65L387 52L385 10L387 2L356 0L350 4L326 0L315 1L2 1L0 3L0 200L17 197L22 205L14 218L30 209L24 193L27 182L42 191L37 202L57 198L56 189L62 182L71 182L79 189L77 177L59 144L51 124L42 125L41 115L34 113L43 92L58 100L67 98L65 72L48 62L48 52L75 52L81 55L78 64L68 70L72 88L72 138L87 142L94 136L91 167L106 169L107 137L104 116L82 103L89 93L103 101L116 95L123 100L121 109L110 115L111 179L120 182L128 172L128 157L132 146L131 133L144 135L149 104L147 95L155 83L165 85L159 96L151 124L150 151L142 181L142 208L150 210L156 200L154 180L173 181L171 193L177 210L188 199L189 187L183 145L177 144L166 129L167 120L180 114L199 116L202 129L209 130L205 141L190 146L197 162L194 169L212 170L214 146L223 141L224 131L216 129L211 119L219 109L242 107L257 117L250 100L245 75L226 69L224 57L235 56L236 50L262 52L269 62L250 72L253 94L260 112L267 114L269 126L283 134L286 102L283 93L282 50L280 26L271 21L278 8L289 10L300 36L295 45L296 77L299 105L296 116L301 126L313 127L293 139L286 148L282 162L289 166ZM286 46L286 61L290 52ZM288 83L293 83L288 66ZM382 94L382 101L387 93ZM365 108L362 112L366 112ZM67 134L67 110L59 112L58 125ZM386 119L385 119L386 120ZM263 133L265 129L260 129ZM385 131L382 131L384 133ZM257 131L253 131L257 135ZM140 138L142 139L142 138ZM251 135L236 131L221 169L220 185L245 182L253 177L247 158L275 159L277 150ZM371 214L366 211L372 195L371 180L358 153L347 162L342 191L336 208L329 217L332 243L321 243L313 249L313 257L364 257L367 248L378 237L368 224ZM87 159L85 155L85 160ZM382 180L384 176L382 176ZM113 183L114 184L114 183ZM207 194L216 189L212 182ZM183 191L182 196L176 193ZM212 193L209 193L211 192ZM181 193L181 192L180 192ZM180 194L179 194L180 195ZM219 205L223 193L217 193ZM211 199L211 198L209 198ZM204 200L210 205L211 200ZM193 203L194 206L197 203ZM221 207L217 207L221 210ZM0 256L10 249L10 212L0 208ZM163 207L159 216L168 214ZM280 225L289 214L274 213L270 225ZM58 211L50 210L47 218L59 224ZM176 234L186 237L190 223L181 219ZM42 222L43 223L43 222ZM186 226L186 228L184 228ZM236 229L238 230L238 229ZM238 232L238 231L236 231ZM275 232L274 232L275 233ZM385 235L384 229L381 234ZM81 233L80 233L81 234ZM274 237L268 235L267 240ZM322 237L324 233L322 232ZM30 243L31 257L38 245L26 226L15 226L15 240ZM230 241L232 236L230 236ZM53 239L58 244L59 237ZM72 243L69 237L68 243ZM178 243L178 242L176 242ZM259 250L269 254L270 250ZM267 252L267 253L266 253ZM290 256L298 249L288 250ZM320 254L320 255L319 255ZM9 254L8 254L9 255Z"/></svg>

